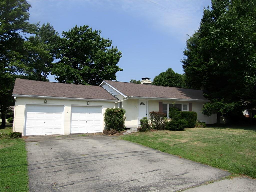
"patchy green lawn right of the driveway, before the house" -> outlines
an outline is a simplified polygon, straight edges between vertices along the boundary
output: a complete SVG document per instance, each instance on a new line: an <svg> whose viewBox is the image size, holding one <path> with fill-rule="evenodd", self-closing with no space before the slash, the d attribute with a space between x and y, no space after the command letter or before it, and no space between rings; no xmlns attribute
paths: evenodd
<svg viewBox="0 0 256 192"><path fill-rule="evenodd" d="M256 178L256 127L187 128L185 131L136 132L121 137L232 174Z"/></svg>

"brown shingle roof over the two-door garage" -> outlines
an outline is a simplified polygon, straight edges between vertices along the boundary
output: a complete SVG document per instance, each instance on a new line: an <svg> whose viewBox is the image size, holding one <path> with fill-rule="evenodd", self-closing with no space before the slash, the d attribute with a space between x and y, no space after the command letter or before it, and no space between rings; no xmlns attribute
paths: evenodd
<svg viewBox="0 0 256 192"><path fill-rule="evenodd" d="M14 95L118 100L99 86L16 79Z"/></svg>

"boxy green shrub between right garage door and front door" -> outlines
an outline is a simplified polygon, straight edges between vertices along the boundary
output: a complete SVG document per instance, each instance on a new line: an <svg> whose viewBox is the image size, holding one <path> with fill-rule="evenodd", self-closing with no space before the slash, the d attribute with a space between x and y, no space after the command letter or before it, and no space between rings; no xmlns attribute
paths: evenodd
<svg viewBox="0 0 256 192"><path fill-rule="evenodd" d="M125 110L124 109L106 109L104 113L104 121L107 130L123 131L125 129Z"/></svg>

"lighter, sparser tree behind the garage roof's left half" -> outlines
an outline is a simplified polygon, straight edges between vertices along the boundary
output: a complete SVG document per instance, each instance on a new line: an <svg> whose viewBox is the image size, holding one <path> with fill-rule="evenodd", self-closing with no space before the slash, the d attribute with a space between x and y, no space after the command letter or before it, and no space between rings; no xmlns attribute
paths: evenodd
<svg viewBox="0 0 256 192"><path fill-rule="evenodd" d="M50 23L37 26L35 35L24 43L25 54L22 62L26 66L28 79L48 81L53 63L60 46L60 36Z"/></svg>

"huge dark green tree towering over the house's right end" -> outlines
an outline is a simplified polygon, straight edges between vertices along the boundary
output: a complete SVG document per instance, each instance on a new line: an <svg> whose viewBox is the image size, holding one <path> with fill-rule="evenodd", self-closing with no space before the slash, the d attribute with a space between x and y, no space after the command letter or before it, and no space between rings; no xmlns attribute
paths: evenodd
<svg viewBox="0 0 256 192"><path fill-rule="evenodd" d="M241 112L256 106L256 1L212 1L199 30L187 40L188 86L212 101L202 112Z"/></svg>

